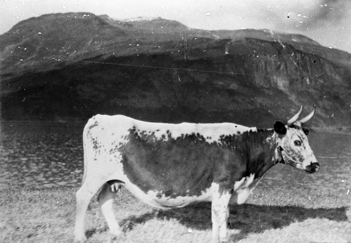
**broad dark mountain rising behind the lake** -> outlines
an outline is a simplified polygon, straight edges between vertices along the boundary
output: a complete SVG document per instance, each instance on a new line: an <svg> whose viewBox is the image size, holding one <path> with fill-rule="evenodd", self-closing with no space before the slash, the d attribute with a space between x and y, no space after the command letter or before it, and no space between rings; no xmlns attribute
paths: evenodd
<svg viewBox="0 0 351 243"><path fill-rule="evenodd" d="M310 126L351 124L351 54L296 34L47 14L0 36L0 66L1 119L100 113L272 127L316 105Z"/></svg>

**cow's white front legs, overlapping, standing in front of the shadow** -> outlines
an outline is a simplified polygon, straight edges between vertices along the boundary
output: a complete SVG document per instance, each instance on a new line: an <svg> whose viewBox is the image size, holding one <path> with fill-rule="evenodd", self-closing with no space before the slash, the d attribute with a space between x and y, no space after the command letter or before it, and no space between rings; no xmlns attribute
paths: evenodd
<svg viewBox="0 0 351 243"><path fill-rule="evenodd" d="M220 184L212 183L212 243L227 242L228 204L231 190L221 188Z"/></svg>

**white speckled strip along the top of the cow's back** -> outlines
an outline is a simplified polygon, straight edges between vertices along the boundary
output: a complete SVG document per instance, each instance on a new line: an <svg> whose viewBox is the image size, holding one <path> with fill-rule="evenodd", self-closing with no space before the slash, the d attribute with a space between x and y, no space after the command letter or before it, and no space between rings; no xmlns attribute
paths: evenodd
<svg viewBox="0 0 351 243"><path fill-rule="evenodd" d="M92 124L93 121L98 120L99 126L108 128L107 130L110 131L110 133L113 131L116 136L115 138L121 138L121 136L128 135L128 130L133 127L135 127L139 134L144 133L145 135L149 135L153 133L157 140L163 139L164 141L167 141L168 134L170 134L172 139L177 139L178 137L194 133L203 136L208 143L219 142L221 135L241 134L250 130L257 131L256 127L250 128L234 123L154 123L135 120L123 115L95 115L91 120ZM113 129L116 127L116 124L118 124L118 130ZM111 134L107 136L107 138L108 137L111 137Z"/></svg>

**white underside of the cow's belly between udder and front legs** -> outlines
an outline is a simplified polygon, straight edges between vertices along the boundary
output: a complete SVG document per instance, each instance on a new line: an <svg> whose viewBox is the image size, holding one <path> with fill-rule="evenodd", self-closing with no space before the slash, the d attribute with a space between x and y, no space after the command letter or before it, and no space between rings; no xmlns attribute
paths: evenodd
<svg viewBox="0 0 351 243"><path fill-rule="evenodd" d="M125 187L136 198L141 201L159 208L173 208L184 207L198 202L211 201L211 188L202 192L201 195L187 195L187 196L165 196L162 191L148 191L143 192L138 186L133 184L125 184Z"/></svg>

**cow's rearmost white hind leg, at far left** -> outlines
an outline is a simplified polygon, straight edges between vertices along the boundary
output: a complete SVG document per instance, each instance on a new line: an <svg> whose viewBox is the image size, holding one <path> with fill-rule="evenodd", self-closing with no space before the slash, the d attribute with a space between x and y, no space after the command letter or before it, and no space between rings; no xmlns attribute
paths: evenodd
<svg viewBox="0 0 351 243"><path fill-rule="evenodd" d="M88 209L90 200L98 192L101 184L94 185L87 183L87 181L79 188L75 194L77 200L77 208L75 213L75 227L74 227L74 241L84 242L87 238L85 236L85 213Z"/></svg>

